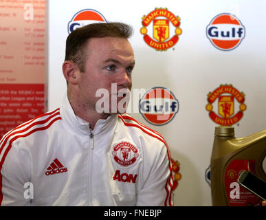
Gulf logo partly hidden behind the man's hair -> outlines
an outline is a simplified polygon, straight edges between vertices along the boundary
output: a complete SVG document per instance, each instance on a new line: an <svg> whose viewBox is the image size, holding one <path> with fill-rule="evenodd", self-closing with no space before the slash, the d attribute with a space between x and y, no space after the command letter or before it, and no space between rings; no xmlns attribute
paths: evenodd
<svg viewBox="0 0 266 220"><path fill-rule="evenodd" d="M67 25L68 33L70 34L76 28L81 28L82 26L89 25L90 23L106 23L104 16L93 9L84 9L77 12L74 17L69 21Z"/></svg>

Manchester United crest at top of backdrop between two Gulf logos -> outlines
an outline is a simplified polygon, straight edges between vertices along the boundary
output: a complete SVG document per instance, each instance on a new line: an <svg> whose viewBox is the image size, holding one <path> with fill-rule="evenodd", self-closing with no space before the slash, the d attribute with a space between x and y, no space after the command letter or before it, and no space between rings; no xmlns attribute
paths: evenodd
<svg viewBox="0 0 266 220"><path fill-rule="evenodd" d="M151 23L153 25L150 25ZM179 28L180 18L169 12L167 8L155 8L148 15L144 15L142 17L142 25L140 33L144 35L144 41L150 47L159 51L173 47L182 33L181 28ZM153 39L148 35L148 32L151 31L153 32Z"/></svg>

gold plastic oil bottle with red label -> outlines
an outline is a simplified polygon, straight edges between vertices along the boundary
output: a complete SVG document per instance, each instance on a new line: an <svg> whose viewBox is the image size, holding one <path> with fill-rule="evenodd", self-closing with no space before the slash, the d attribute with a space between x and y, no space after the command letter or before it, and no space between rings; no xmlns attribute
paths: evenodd
<svg viewBox="0 0 266 220"><path fill-rule="evenodd" d="M234 127L217 126L214 135L210 162L212 206L259 206L258 197L236 180L242 170L249 170L266 181L266 130L236 138Z"/></svg>

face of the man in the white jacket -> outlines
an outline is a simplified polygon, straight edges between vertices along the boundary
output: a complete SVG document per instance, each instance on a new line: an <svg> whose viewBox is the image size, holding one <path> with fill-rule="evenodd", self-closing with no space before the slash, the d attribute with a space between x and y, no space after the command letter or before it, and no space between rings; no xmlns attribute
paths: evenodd
<svg viewBox="0 0 266 220"><path fill-rule="evenodd" d="M114 111L113 107L119 110L118 102L123 98L118 97L118 91L130 91L132 87L131 72L135 61L129 41L115 37L89 39L86 53L85 72L80 72L78 78L78 98L82 108L95 110L100 99L96 92L99 94L104 89L109 93L109 112L122 113Z"/></svg>

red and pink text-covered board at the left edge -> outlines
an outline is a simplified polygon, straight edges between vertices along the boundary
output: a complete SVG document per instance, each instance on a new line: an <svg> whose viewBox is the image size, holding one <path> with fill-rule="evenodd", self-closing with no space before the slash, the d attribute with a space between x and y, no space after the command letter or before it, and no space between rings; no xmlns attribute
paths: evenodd
<svg viewBox="0 0 266 220"><path fill-rule="evenodd" d="M0 138L47 111L45 1L0 1Z"/></svg>

